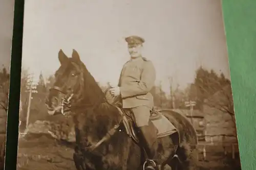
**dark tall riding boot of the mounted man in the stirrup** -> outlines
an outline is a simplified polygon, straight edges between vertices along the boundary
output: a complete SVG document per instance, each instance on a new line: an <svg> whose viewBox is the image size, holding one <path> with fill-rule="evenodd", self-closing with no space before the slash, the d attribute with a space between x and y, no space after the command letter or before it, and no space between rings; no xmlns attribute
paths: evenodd
<svg viewBox="0 0 256 170"><path fill-rule="evenodd" d="M145 170L157 169L154 161L158 147L157 132L153 123L150 122L148 126L139 127L139 140L148 158L145 162Z"/></svg>

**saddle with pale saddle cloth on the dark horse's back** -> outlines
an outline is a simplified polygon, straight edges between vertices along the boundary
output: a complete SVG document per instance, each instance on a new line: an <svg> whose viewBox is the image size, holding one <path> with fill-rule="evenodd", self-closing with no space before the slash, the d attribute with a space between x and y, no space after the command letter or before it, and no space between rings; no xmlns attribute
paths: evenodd
<svg viewBox="0 0 256 170"><path fill-rule="evenodd" d="M116 106L116 108L119 110L119 113L122 115L122 123L127 135L132 137L136 143L139 143L139 138L136 133L137 127L134 123L132 109L123 109L120 103L116 103L114 106ZM155 110L154 108L151 111L150 121L156 128L157 138L169 136L177 132L175 126L170 123L170 121L164 115L162 115L161 112Z"/></svg>

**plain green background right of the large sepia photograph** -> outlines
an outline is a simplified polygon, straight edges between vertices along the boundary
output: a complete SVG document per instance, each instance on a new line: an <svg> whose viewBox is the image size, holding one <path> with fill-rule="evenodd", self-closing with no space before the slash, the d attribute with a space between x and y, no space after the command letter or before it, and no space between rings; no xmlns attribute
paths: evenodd
<svg viewBox="0 0 256 170"><path fill-rule="evenodd" d="M256 169L256 0L223 0L242 169ZM254 132L255 130L255 132Z"/></svg>

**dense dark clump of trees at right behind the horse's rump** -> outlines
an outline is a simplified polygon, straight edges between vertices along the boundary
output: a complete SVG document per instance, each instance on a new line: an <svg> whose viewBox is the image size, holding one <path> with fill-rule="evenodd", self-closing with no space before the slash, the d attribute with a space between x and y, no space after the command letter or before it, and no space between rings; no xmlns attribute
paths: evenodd
<svg viewBox="0 0 256 170"><path fill-rule="evenodd" d="M190 85L191 100L198 103L197 107L202 109L203 105L226 109L232 105L231 83L224 74L217 75L214 70L206 70L200 67L196 71L194 83ZM233 108L229 108L230 112ZM233 112L233 111L232 111Z"/></svg>

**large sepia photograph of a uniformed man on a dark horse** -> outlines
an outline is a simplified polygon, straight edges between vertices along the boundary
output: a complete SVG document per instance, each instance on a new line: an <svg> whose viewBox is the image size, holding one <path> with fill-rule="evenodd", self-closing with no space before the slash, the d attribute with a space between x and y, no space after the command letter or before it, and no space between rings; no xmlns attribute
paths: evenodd
<svg viewBox="0 0 256 170"><path fill-rule="evenodd" d="M239 170L221 0L26 0L17 169Z"/></svg>

